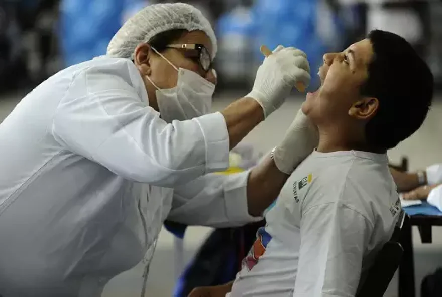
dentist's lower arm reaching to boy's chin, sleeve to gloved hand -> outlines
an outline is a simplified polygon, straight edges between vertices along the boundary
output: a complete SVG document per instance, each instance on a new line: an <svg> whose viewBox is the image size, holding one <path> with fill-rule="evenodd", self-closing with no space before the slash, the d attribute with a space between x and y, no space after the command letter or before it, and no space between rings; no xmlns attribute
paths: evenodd
<svg viewBox="0 0 442 297"><path fill-rule="evenodd" d="M317 146L317 130L298 112L284 140L250 172L209 174L175 187L168 219L187 225L228 227L260 220L291 171ZM278 164L284 166L278 167ZM284 171L281 171L284 170Z"/></svg>

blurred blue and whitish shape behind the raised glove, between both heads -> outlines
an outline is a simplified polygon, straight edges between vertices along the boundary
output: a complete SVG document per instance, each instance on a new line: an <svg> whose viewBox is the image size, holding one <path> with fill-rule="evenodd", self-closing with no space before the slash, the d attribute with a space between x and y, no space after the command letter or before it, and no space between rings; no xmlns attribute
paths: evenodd
<svg viewBox="0 0 442 297"><path fill-rule="evenodd" d="M309 59L312 80L310 90L320 85L317 69L327 46L317 34L317 0L256 0L252 7L240 7L218 19L220 72L235 79L251 73L264 57L261 45L293 46ZM250 77L249 80L253 79Z"/></svg>

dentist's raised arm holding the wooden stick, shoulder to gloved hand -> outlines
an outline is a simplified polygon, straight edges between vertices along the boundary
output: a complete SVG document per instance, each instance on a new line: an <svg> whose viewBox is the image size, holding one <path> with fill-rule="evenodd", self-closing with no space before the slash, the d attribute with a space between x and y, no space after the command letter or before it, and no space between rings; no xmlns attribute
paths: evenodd
<svg viewBox="0 0 442 297"><path fill-rule="evenodd" d="M306 69L305 54L282 49L264 60L245 98L223 112L166 123L128 79L140 75L132 62L128 73L118 65L90 67L61 98L52 135L66 151L125 179L175 187L226 169L229 149L282 104L296 81L308 83Z"/></svg>

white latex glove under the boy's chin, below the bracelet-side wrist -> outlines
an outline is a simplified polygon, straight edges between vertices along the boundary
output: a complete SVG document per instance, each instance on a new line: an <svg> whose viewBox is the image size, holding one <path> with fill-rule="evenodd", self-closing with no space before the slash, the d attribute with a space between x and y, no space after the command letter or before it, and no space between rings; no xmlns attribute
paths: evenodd
<svg viewBox="0 0 442 297"><path fill-rule="evenodd" d="M281 144L273 150L273 161L279 171L291 174L319 143L319 132L299 109Z"/></svg>

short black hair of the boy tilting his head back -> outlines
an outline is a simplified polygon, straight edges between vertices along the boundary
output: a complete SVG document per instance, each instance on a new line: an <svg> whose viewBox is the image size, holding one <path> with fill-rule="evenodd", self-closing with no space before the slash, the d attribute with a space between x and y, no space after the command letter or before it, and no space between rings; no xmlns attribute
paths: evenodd
<svg viewBox="0 0 442 297"><path fill-rule="evenodd" d="M369 33L374 50L361 95L379 100L376 115L366 125L367 142L389 150L423 123L433 97L434 77L413 47L394 33Z"/></svg>

